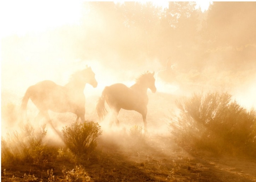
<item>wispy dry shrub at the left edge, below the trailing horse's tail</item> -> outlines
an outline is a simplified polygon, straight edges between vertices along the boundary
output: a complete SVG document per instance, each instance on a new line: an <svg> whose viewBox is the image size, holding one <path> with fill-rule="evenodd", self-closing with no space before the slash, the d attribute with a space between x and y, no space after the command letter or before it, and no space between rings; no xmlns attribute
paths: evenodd
<svg viewBox="0 0 256 182"><path fill-rule="evenodd" d="M19 132L8 132L5 138L1 138L2 164L46 164L48 154L42 144L46 133L45 125L35 132L30 123L26 123Z"/></svg>

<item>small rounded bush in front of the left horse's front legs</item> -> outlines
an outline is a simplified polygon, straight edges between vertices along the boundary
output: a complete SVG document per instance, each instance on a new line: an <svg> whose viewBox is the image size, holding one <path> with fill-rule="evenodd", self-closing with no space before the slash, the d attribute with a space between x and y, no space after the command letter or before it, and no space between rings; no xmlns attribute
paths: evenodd
<svg viewBox="0 0 256 182"><path fill-rule="evenodd" d="M97 138L101 135L98 123L75 122L62 130L64 142L75 154L89 154L97 146Z"/></svg>

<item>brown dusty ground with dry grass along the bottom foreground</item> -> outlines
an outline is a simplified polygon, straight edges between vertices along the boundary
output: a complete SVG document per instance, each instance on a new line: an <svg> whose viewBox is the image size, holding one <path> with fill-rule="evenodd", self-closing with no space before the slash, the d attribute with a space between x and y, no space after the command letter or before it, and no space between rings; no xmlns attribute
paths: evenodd
<svg viewBox="0 0 256 182"><path fill-rule="evenodd" d="M112 143L112 137L108 138L108 142L100 139L97 149L87 159L64 160L62 157L68 151L59 149L58 157L49 160L46 166L2 165L2 169L5 169L2 171L2 181L256 180L256 161L253 159L189 154L170 143L170 138L166 136L148 136L143 145L130 143L125 146ZM133 140L129 135L125 139ZM166 145L162 146L163 143Z"/></svg>

